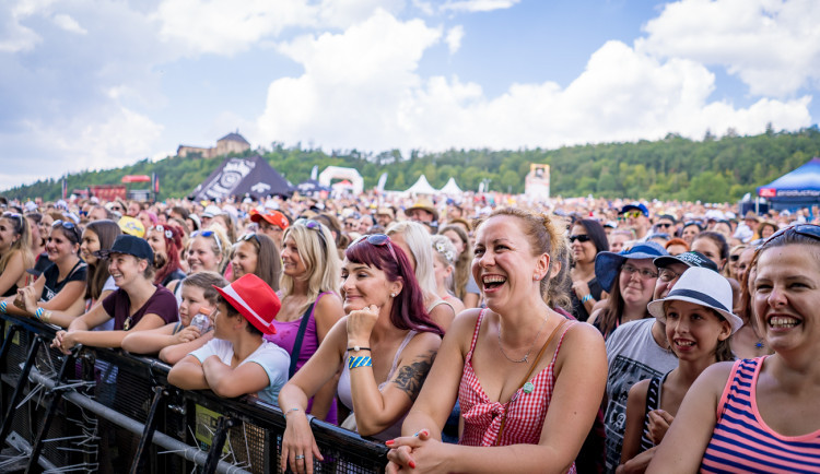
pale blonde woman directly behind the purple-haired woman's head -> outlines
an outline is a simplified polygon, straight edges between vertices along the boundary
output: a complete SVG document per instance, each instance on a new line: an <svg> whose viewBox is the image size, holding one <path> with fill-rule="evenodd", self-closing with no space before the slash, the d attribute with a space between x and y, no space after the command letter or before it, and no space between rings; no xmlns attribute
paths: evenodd
<svg viewBox="0 0 820 474"><path fill-rule="evenodd" d="M430 244L430 233L426 227L417 222L403 221L390 224L385 234L390 237L396 247L407 253L410 266L415 273L415 280L424 294L424 308L430 318L446 332L456 313L453 307L437 295L433 270L433 247Z"/></svg>

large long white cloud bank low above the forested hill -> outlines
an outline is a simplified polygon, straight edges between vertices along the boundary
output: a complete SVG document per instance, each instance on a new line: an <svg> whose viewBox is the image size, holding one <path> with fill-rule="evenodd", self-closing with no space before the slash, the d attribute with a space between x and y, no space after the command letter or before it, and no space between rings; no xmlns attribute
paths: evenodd
<svg viewBox="0 0 820 474"><path fill-rule="evenodd" d="M513 84L487 97L472 82L418 75L423 50L438 39L436 29L382 12L344 34L282 46L305 73L271 83L261 133L329 149L517 149L652 140L669 132L700 139L706 130L759 133L769 122L775 129L811 123L808 96L764 98L747 108L710 102L715 76L705 67L661 61L620 42L596 51L565 88Z"/></svg>

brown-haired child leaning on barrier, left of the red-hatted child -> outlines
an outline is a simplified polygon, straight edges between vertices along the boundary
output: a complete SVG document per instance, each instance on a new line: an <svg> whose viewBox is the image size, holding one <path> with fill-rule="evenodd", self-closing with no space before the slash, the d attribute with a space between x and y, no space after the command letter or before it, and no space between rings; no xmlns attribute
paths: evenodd
<svg viewBox="0 0 820 474"><path fill-rule="evenodd" d="M210 324L211 312L216 308L219 293L214 287L227 285L227 281L216 272L199 272L183 280L183 303L179 305L179 321L150 331L128 334L122 340L122 348L134 354L160 353L160 358L171 365L186 354L202 347L213 339ZM208 316L207 329L191 325L198 313Z"/></svg>

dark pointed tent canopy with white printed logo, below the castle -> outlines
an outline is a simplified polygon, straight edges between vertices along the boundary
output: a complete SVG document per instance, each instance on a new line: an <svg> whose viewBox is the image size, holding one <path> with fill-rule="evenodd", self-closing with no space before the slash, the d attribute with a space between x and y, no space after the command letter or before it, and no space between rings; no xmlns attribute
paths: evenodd
<svg viewBox="0 0 820 474"><path fill-rule="evenodd" d="M293 194L291 185L261 156L227 158L192 192L196 200L224 200L232 195Z"/></svg>

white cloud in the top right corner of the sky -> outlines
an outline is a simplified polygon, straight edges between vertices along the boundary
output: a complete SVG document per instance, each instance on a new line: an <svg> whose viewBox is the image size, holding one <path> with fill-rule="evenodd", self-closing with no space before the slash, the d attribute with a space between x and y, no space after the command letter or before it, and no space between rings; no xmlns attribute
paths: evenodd
<svg viewBox="0 0 820 474"><path fill-rule="evenodd" d="M645 25L636 48L723 66L753 95L794 95L820 80L820 2L681 0Z"/></svg>

